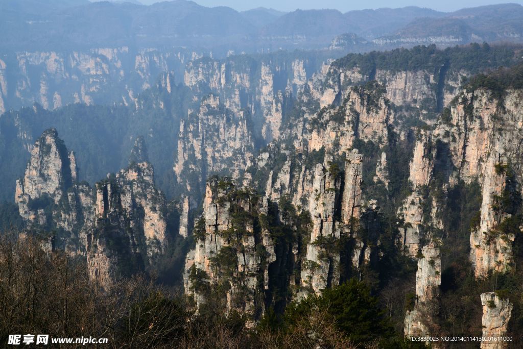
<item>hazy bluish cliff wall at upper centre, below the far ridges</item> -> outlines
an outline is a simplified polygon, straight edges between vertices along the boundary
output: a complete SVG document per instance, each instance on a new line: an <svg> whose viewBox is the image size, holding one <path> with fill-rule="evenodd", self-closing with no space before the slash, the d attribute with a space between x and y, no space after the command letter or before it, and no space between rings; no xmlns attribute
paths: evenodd
<svg viewBox="0 0 523 349"><path fill-rule="evenodd" d="M284 59L268 55L261 60L231 56L226 60L208 58L187 65L184 82L200 93L213 92L234 113L249 110L264 142L278 138L284 107L300 94L319 68L311 59Z"/></svg>

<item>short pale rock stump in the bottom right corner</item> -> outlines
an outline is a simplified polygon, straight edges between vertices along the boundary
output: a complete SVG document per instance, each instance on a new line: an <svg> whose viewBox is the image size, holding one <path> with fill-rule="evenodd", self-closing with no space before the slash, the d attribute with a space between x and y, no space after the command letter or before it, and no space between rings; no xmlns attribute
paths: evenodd
<svg viewBox="0 0 523 349"><path fill-rule="evenodd" d="M494 292L487 292L481 294L481 305L483 306L482 336L486 339L481 342L481 349L507 348L508 341L502 341L501 338L507 333L508 322L512 315L512 303L508 299L500 298Z"/></svg>

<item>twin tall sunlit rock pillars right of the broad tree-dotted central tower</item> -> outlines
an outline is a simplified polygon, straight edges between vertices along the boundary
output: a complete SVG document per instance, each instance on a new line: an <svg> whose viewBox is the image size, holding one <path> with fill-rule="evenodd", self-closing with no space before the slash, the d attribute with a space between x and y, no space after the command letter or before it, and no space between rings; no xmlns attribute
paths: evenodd
<svg viewBox="0 0 523 349"><path fill-rule="evenodd" d="M357 149L347 155L343 179L332 160L326 157L324 165L316 165L312 191L306 194L309 196L312 231L301 278L303 285L314 293L339 284L341 255L336 245L342 236L354 240L351 260L355 270L368 263L370 258L367 241L356 234L362 204L362 155Z"/></svg>

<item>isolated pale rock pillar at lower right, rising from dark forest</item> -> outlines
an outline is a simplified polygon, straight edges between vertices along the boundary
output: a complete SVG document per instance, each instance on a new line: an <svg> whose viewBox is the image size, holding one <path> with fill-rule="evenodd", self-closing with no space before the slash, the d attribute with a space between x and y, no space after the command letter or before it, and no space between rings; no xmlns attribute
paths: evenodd
<svg viewBox="0 0 523 349"><path fill-rule="evenodd" d="M405 336L435 334L434 317L438 313L437 297L441 285L441 255L434 241L422 249L416 272L414 308L405 315Z"/></svg>

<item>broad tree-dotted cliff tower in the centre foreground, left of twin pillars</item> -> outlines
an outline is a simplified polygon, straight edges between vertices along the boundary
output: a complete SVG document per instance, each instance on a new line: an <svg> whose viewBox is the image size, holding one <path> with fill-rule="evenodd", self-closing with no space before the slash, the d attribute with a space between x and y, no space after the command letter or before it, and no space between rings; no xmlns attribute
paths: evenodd
<svg viewBox="0 0 523 349"><path fill-rule="evenodd" d="M251 321L263 314L265 277L275 258L270 237L259 228L262 207L254 193L235 190L226 179L209 180L196 247L186 261L186 293L197 304L210 296L210 283L225 290L219 296L228 313L244 312Z"/></svg>

